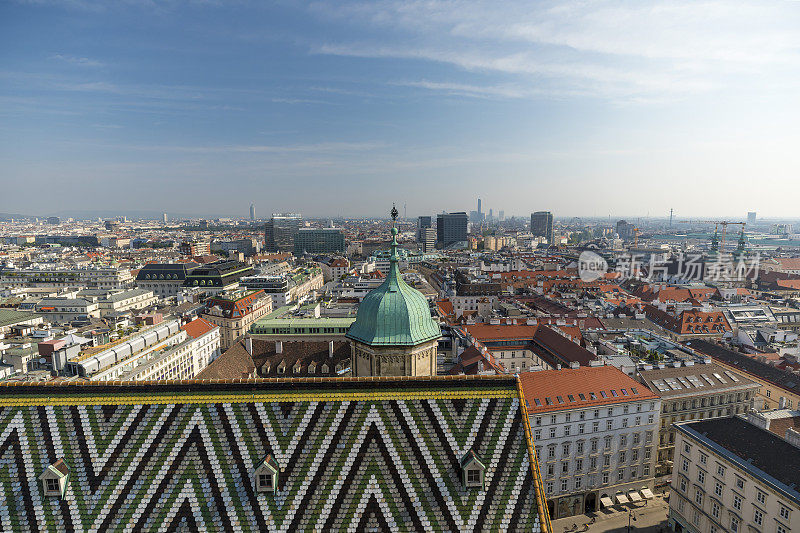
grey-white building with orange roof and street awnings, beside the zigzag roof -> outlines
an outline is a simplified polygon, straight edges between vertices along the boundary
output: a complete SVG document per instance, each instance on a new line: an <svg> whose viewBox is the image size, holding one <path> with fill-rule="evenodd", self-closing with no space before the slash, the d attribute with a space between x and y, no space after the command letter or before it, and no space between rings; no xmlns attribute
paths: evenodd
<svg viewBox="0 0 800 533"><path fill-rule="evenodd" d="M656 394L612 366L519 377L551 518L653 496Z"/></svg>

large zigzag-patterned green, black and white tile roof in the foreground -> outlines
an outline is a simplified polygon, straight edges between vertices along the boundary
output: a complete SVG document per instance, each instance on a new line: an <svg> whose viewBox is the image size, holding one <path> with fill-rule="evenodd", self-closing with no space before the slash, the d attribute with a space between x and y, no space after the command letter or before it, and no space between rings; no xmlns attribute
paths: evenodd
<svg viewBox="0 0 800 533"><path fill-rule="evenodd" d="M0 385L0 530L549 532L520 394L502 376ZM470 451L484 488L462 486ZM63 498L38 480L58 459Z"/></svg>

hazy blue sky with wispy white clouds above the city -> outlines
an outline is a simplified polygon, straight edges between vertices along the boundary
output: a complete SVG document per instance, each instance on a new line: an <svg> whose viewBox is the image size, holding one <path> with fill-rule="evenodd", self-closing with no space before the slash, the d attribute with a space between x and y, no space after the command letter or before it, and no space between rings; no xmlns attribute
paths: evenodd
<svg viewBox="0 0 800 533"><path fill-rule="evenodd" d="M800 217L798 28L798 1L4 0L0 212Z"/></svg>

